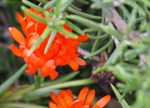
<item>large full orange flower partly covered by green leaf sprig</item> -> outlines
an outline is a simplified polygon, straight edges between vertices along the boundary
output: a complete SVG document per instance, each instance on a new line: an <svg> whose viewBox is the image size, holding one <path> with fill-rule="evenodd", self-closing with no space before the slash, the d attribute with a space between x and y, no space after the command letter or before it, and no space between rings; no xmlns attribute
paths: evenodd
<svg viewBox="0 0 150 108"><path fill-rule="evenodd" d="M42 13L33 8L30 8L30 11L44 18ZM24 58L27 64L26 73L35 74L37 69L40 69L41 76L49 76L53 80L58 76L57 66L69 65L74 71L77 71L79 66L86 65L86 62L79 58L80 54L77 49L81 42L88 40L87 34L78 35L77 39L72 39L57 32L48 52L45 54L44 50L50 37L49 34L34 52L29 54L30 48L40 38L47 24L33 19L26 13L24 17L16 13L16 17L25 36L17 28L9 27L10 35L19 44L16 47L12 43L10 48L16 56ZM72 29L66 24L63 27L68 32L72 32Z"/></svg>

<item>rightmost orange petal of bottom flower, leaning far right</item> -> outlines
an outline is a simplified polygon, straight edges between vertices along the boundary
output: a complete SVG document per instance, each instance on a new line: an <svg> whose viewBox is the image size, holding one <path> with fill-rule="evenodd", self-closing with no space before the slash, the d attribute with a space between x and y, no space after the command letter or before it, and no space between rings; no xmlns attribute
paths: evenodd
<svg viewBox="0 0 150 108"><path fill-rule="evenodd" d="M92 108L103 108L111 99L110 95L104 96L102 99L100 99Z"/></svg>

